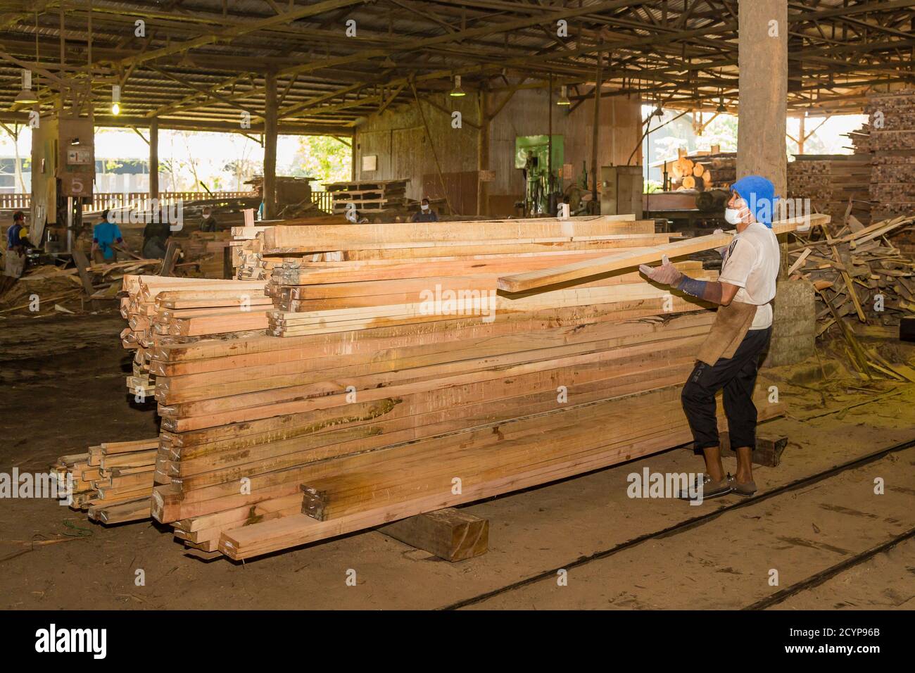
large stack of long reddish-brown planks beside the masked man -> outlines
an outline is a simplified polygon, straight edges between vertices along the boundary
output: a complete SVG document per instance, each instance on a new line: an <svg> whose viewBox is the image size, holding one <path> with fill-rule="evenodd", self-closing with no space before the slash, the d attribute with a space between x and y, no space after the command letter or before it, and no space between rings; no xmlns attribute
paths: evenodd
<svg viewBox="0 0 915 673"><path fill-rule="evenodd" d="M189 547L246 559L690 440L680 385L714 314L633 265L727 234L670 244L606 217L258 235L288 260L268 286L283 336L150 353L153 516ZM492 299L502 275L556 265L597 270Z"/></svg>

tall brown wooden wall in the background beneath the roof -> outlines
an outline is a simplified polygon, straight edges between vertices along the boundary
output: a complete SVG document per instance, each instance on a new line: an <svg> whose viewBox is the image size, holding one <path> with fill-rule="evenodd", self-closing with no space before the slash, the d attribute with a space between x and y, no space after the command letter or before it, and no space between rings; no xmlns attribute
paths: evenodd
<svg viewBox="0 0 915 673"><path fill-rule="evenodd" d="M503 92L490 94L490 110L501 103ZM554 92L558 97L558 90ZM478 168L479 96L468 94L460 99L442 94L434 101L447 110L463 115L461 128L453 128L451 117L428 103L423 103L438 160L444 174L452 205L462 214L475 214L477 195L466 193L468 172ZM591 137L594 107L586 101L571 113L568 108L553 105L553 133L564 136L565 163L570 163L580 179L582 162L591 171ZM516 92L490 123L490 170L495 181L489 183L490 214L511 214L511 203L522 199L524 181L521 170L514 168L515 136L545 135L549 125L547 92L530 89ZM629 96L605 96L601 99L600 144L598 159L602 166L626 164L633 148L639 147L632 164L639 164L641 151L640 102ZM403 105L372 115L356 130L354 138L356 179L410 179L407 196L441 196L441 189L431 190L437 180L435 157L416 104ZM376 155L377 169L363 171L362 157ZM556 167L558 168L558 167ZM456 191L457 190L457 191ZM466 211L466 212L465 212Z"/></svg>

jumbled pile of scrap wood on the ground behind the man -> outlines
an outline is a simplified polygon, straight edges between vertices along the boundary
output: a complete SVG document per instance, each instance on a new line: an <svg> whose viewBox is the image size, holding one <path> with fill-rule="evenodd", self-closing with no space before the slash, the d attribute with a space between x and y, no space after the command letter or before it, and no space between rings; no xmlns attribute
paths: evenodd
<svg viewBox="0 0 915 673"><path fill-rule="evenodd" d="M856 370L867 377L915 380L913 372L888 364L857 342L854 324L895 326L915 311L915 261L895 245L915 228L915 215L864 226L854 215L836 233L818 240L798 235L789 250L790 276L813 283L817 292L817 335L837 333Z"/></svg>

